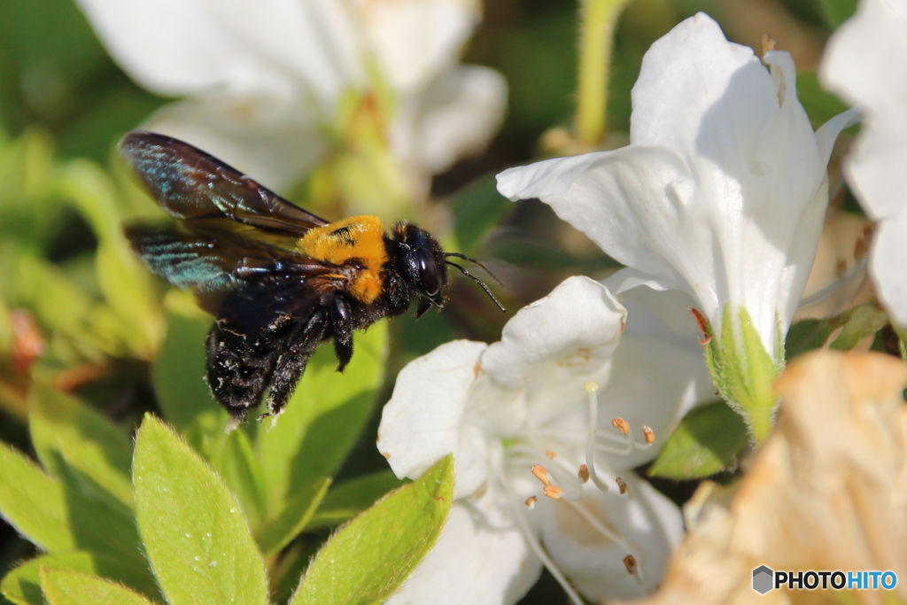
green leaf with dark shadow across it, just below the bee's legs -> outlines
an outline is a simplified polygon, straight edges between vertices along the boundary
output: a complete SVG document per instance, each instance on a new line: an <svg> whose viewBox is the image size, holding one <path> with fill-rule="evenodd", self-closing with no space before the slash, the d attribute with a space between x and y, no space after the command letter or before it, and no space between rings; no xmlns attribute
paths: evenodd
<svg viewBox="0 0 907 605"><path fill-rule="evenodd" d="M258 430L269 518L276 518L288 499L336 472L372 411L386 356L385 322L356 333L356 354L343 374L336 372L333 350L322 346L277 424Z"/></svg>

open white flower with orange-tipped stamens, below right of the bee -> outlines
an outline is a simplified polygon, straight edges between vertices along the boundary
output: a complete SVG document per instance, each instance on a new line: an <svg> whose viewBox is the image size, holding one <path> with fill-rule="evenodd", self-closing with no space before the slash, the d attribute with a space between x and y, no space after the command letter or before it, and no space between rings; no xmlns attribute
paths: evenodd
<svg viewBox="0 0 907 605"><path fill-rule="evenodd" d="M631 470L658 451L644 443L643 425L667 436L714 389L695 327L680 337L663 325L666 312L685 312L678 298L686 295L639 288L628 293L628 315L607 288L569 278L517 313L501 342L454 341L404 368L378 449L410 478L453 452L456 502L437 547L390 603L427 595L433 603L514 603L541 562L574 599L571 585L603 600L658 584L682 523L677 507ZM600 390L587 392L590 383ZM610 426L617 417L629 434ZM585 485L581 465L591 476ZM619 476L634 497L619 493Z"/></svg>

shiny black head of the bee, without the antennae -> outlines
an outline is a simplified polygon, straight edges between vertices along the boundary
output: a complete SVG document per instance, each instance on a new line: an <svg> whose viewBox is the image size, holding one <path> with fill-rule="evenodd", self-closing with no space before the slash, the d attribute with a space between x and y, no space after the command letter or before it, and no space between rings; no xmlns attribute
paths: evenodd
<svg viewBox="0 0 907 605"><path fill-rule="evenodd" d="M416 311L421 316L432 305L444 307L447 299L447 266L444 250L434 236L414 224L400 221L392 240L397 246L397 271L410 292L422 298Z"/></svg>

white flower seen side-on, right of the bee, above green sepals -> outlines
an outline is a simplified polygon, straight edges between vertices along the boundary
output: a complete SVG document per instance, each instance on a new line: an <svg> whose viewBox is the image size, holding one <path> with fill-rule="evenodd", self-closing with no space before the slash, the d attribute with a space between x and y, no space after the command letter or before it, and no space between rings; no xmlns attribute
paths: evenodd
<svg viewBox="0 0 907 605"><path fill-rule="evenodd" d="M777 361L850 116L813 132L790 55L764 61L772 73L710 17L690 17L643 59L628 147L504 171L498 189L547 202L631 268L623 288L686 290L719 335L726 306L746 309Z"/></svg>

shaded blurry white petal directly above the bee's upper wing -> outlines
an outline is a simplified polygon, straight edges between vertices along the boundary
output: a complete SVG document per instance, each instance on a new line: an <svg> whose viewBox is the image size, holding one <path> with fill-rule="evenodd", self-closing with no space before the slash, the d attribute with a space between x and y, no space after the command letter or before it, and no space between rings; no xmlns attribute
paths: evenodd
<svg viewBox="0 0 907 605"><path fill-rule="evenodd" d="M273 190L296 183L327 151L298 98L211 94L165 105L142 126L226 161Z"/></svg>

